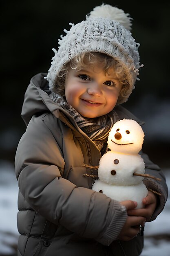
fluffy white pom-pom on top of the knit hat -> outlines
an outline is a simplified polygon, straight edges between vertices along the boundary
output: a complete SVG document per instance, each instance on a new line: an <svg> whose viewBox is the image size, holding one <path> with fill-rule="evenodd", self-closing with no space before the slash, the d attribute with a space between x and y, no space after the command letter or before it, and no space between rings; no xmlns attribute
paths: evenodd
<svg viewBox="0 0 170 256"><path fill-rule="evenodd" d="M129 13L125 13L122 9L113 7L110 4L102 4L97 6L88 15L88 18L110 18L119 22L126 29L131 30L132 18L130 18Z"/></svg>

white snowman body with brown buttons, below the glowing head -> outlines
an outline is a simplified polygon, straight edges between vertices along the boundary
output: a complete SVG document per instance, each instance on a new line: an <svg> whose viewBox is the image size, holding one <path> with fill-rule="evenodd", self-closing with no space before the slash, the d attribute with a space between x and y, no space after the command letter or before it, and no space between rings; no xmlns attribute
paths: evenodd
<svg viewBox="0 0 170 256"><path fill-rule="evenodd" d="M140 209L144 206L142 200L148 194L148 190L143 183L143 177L135 176L133 173L144 173L144 169L145 164L140 155L109 151L100 159L100 178L95 181L92 189L119 202L136 201L136 209Z"/></svg>

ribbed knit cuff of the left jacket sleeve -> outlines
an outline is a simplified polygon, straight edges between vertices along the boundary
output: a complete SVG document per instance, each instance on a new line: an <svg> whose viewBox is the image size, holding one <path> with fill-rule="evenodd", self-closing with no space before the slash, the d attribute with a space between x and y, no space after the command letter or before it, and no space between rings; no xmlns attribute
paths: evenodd
<svg viewBox="0 0 170 256"><path fill-rule="evenodd" d="M108 214L108 227L106 231L100 238L95 239L102 245L110 245L114 240L116 240L127 218L126 207L116 200L111 201L110 211Z"/></svg>

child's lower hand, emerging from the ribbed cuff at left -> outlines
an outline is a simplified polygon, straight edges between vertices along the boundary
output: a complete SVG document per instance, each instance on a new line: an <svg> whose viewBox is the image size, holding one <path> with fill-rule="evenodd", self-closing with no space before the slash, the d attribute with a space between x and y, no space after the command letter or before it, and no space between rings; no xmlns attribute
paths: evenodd
<svg viewBox="0 0 170 256"><path fill-rule="evenodd" d="M122 205L124 205L128 211L133 211L133 209L137 206L137 202L134 201L123 201L120 202ZM126 222L124 224L124 227L122 228L118 239L123 241L129 241L140 231L140 225L144 226L144 223L146 221L146 218L142 216L128 216L126 219Z"/></svg>

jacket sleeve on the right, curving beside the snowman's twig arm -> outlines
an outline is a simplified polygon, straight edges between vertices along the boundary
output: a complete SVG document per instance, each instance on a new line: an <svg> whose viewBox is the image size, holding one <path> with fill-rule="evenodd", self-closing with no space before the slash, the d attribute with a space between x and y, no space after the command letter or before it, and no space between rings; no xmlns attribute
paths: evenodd
<svg viewBox="0 0 170 256"><path fill-rule="evenodd" d="M158 195L157 208L155 209L155 212L153 213L152 218L150 219L150 221L152 221L157 218L157 216L161 213L166 204L166 200L168 197L168 186L166 184L166 177L163 174L163 171L159 168L159 166L157 166L157 164L152 163L148 155L142 152L140 152L140 154L145 162L145 172L161 179L161 181L153 180L150 178L144 179L144 184L146 185L146 187L161 193L160 196Z"/></svg>

